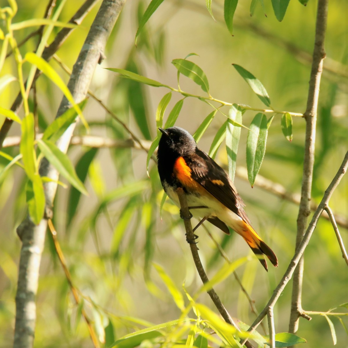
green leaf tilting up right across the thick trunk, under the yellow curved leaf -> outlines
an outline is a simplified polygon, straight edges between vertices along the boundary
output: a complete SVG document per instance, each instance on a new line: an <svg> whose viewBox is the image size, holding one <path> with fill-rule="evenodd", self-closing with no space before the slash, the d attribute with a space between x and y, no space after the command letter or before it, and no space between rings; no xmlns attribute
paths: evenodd
<svg viewBox="0 0 348 348"><path fill-rule="evenodd" d="M78 104L79 108L83 110L87 104L87 98ZM74 108L66 110L61 116L57 117L46 129L44 135L42 136L43 140L50 140L55 143L65 130L74 122L78 116Z"/></svg>

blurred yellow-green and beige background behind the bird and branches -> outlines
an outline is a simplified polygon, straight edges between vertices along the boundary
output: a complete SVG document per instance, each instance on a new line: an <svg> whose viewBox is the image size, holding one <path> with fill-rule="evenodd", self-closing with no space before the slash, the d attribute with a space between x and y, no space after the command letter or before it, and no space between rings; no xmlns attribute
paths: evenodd
<svg viewBox="0 0 348 348"><path fill-rule="evenodd" d="M16 22L44 15L46 1L17 1ZM68 1L61 21L68 21L82 1ZM0 6L7 6L2 0ZM223 3L215 1L212 10L216 22L209 16L204 1L165 1L140 34L134 45L139 17L148 2L127 1L109 39L106 59L97 67L90 89L124 121L140 138L152 140L156 136L155 113L167 90L139 85L122 79L103 68L122 68L176 87L177 71L171 64L175 58L189 53L198 56L189 59L206 73L210 93L217 99L253 108L263 104L232 67L242 65L266 87L276 110L304 112L306 109L310 60L314 46L317 2L309 0L306 7L292 0L285 18L278 22L270 1L265 2L266 14L260 5L250 17L249 0L238 2L232 37L223 22ZM99 6L99 3L97 7ZM71 69L96 14L94 8L58 51L58 57ZM325 189L337 172L347 151L347 78L348 78L348 2L332 0L326 33L326 55L320 89L316 137L316 162L313 182L313 200L319 203ZM20 42L30 28L16 33ZM56 33L58 29L55 29ZM53 38L53 36L52 36ZM35 38L21 47L21 53L36 47ZM61 66L52 66L68 81ZM29 71L29 64L24 69ZM14 59L9 57L0 73L16 76ZM203 95L200 87L190 79L180 78L180 87L189 93ZM0 105L10 108L18 93L15 83L0 95ZM61 92L46 78L37 83L37 102L40 129L53 121ZM33 95L31 95L31 101ZM182 98L173 94L165 118L175 102ZM187 98L176 122L177 126L195 132L212 108L195 98ZM225 113L228 109L223 109ZM249 125L256 112L247 111L243 123ZM89 98L84 111L93 135L112 139L129 139L129 134L101 106ZM2 117L2 116L0 116ZM210 144L225 121L217 113L199 142L208 151ZM280 129L276 115L269 129L266 156L260 174L282 184L288 191L299 193L301 187L305 123L293 119L293 141L288 142ZM85 130L79 125L77 135ZM20 127L13 125L10 136L20 135ZM237 164L246 166L245 143L247 130L242 129ZM3 151L15 156L18 147ZM111 321L115 339L146 325L176 319L180 311L153 268L160 264L173 278L177 287L182 283L189 293L201 285L185 241L183 224L178 209L166 201L162 217L159 205L162 190L157 168L150 162L150 179L146 174L147 153L130 148L90 149L72 146L69 156L77 164L79 175L86 175L89 197L78 197L70 187L58 188L55 201L54 224L58 231L66 261L74 284L85 296L84 306L101 328ZM217 163L227 166L224 143L216 157ZM0 159L0 166L7 161ZM64 181L64 180L63 180ZM17 265L21 243L16 227L26 214L24 173L12 167L0 177L0 347L10 347L13 341L15 319L15 292ZM279 268L270 268L268 274L252 258L237 270L244 286L260 311L267 303L275 286L282 278L294 253L298 207L236 178L235 185L246 203L246 212L256 231L276 252ZM334 192L330 207L335 213L347 216L348 180L343 178ZM225 238L221 231L207 226L222 243L231 260L250 254L239 236ZM348 244L347 228L340 227L343 241ZM200 256L208 276L215 274L223 264L216 247L203 228L198 230ZM327 311L348 302L347 266L342 259L333 228L321 219L304 254L304 282L302 306L305 310ZM275 307L277 332L288 330L291 299L290 282ZM216 289L229 313L251 324L255 315L240 292L233 276ZM212 307L206 294L199 301ZM46 248L40 267L37 298L37 327L35 347L90 347L92 345L85 322L78 315L79 308L71 296L68 283L47 234ZM126 319L129 316L133 319ZM135 319L136 318L136 319ZM144 322L142 322L144 321ZM348 347L347 333L337 318L332 318L337 333L337 347ZM347 319L343 318L346 326ZM265 322L267 327L267 323ZM111 326L109 326L110 328ZM100 329L100 332L102 334ZM262 332L261 327L259 332ZM333 346L329 325L322 316L312 321L300 320L297 333L307 340L306 347Z"/></svg>

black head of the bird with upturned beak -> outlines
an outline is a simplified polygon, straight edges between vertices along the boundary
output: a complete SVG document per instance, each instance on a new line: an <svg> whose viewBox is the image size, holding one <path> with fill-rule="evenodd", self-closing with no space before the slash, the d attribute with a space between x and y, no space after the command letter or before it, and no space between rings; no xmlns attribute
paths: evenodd
<svg viewBox="0 0 348 348"><path fill-rule="evenodd" d="M159 130L162 136L158 145L158 158L161 156L179 157L196 151L196 141L185 129L171 127L167 129L159 128Z"/></svg>

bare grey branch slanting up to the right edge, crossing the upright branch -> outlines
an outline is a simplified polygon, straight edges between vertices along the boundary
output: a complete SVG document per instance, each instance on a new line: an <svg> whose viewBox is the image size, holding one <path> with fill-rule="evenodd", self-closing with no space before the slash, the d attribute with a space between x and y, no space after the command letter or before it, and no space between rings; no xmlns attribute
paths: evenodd
<svg viewBox="0 0 348 348"><path fill-rule="evenodd" d="M278 284L278 286L274 290L273 295L269 299L266 307L262 310L260 315L256 318L256 320L250 326L248 331L253 332L256 329L256 327L258 327L258 325L261 323L264 316L266 316L268 309L271 307L273 308L274 305L276 304L276 302L277 302L279 296L282 294L286 284L289 282L292 275L294 274L294 270L295 270L296 266L298 266L299 260L300 260L301 256L303 255L304 250L306 249L306 247L308 245L308 242L309 242L309 240L314 232L315 227L317 226L317 222L318 222L318 219L319 219L321 213L329 205L331 195L332 195L333 191L336 189L336 187L338 186L338 184L340 183L343 175L347 172L347 168L348 168L348 151L346 153L345 158L343 159L343 162L342 162L337 174L335 175L335 177L331 181L329 187L325 190L324 197L321 200L321 202L318 206L318 209L315 211L313 218L312 218L312 220L307 228L307 231L304 234L299 247L296 249L296 252L295 252L293 258L291 259L291 262L290 262L282 280L280 280L280 283ZM309 313L309 312L306 311L306 313ZM243 344L243 342L241 342L241 343Z"/></svg>

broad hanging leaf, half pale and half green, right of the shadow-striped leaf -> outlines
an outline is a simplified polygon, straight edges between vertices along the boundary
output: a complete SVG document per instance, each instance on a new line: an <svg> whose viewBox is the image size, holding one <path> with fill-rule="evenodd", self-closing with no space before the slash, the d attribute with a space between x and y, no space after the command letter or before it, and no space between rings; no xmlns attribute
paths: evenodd
<svg viewBox="0 0 348 348"><path fill-rule="evenodd" d="M252 187L266 152L267 132L266 115L262 113L256 114L251 122L246 140L246 165L248 179Z"/></svg>

